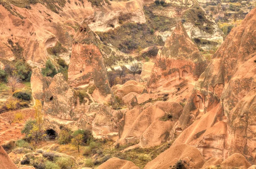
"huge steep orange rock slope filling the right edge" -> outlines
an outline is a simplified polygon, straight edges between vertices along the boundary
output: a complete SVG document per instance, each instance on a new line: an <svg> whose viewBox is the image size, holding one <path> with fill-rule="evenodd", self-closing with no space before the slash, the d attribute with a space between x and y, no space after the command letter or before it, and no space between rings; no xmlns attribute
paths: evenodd
<svg viewBox="0 0 256 169"><path fill-rule="evenodd" d="M239 153L255 163L255 14L253 9L230 32L201 74L172 129L174 145L196 146L207 159Z"/></svg>

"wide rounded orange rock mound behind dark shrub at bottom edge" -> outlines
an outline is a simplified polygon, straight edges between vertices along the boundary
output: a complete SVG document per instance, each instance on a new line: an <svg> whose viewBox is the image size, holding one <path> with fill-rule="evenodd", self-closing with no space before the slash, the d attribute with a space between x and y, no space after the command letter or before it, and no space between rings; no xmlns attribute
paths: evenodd
<svg viewBox="0 0 256 169"><path fill-rule="evenodd" d="M200 169L206 161L197 148L180 144L171 146L158 155L147 163L144 169L169 169L169 166L174 166L178 160L185 160L188 167L193 169Z"/></svg>

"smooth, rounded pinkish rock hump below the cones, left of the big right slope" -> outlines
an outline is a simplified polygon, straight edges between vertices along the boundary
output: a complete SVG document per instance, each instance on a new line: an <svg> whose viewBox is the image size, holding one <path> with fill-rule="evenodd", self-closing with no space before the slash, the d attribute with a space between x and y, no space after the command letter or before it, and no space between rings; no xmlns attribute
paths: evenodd
<svg viewBox="0 0 256 169"><path fill-rule="evenodd" d="M143 147L164 143L181 111L182 106L175 102L157 101L144 110L140 106L135 106L125 112L120 122L122 126L119 130L119 143L140 140Z"/></svg>

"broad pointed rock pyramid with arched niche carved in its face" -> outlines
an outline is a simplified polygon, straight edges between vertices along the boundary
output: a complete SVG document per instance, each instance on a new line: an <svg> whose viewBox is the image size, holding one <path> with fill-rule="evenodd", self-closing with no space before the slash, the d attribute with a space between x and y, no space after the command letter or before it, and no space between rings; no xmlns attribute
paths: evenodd
<svg viewBox="0 0 256 169"><path fill-rule="evenodd" d="M173 95L176 92L176 95L177 93L183 95L183 98L177 99L188 99L188 96L184 95L192 91L195 80L204 72L206 65L206 60L180 22L172 35L167 38L163 49L158 51L147 90L153 93L172 92Z"/></svg>

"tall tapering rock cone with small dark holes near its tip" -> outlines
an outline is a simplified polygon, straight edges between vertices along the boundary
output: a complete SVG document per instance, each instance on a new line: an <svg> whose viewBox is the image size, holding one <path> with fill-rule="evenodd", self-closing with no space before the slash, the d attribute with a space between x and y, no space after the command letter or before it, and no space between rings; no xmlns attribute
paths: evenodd
<svg viewBox="0 0 256 169"><path fill-rule="evenodd" d="M86 24L79 28L73 41L68 83L73 87L95 84L102 95L108 95L107 71L97 43L96 35Z"/></svg>

